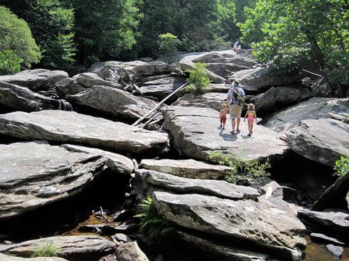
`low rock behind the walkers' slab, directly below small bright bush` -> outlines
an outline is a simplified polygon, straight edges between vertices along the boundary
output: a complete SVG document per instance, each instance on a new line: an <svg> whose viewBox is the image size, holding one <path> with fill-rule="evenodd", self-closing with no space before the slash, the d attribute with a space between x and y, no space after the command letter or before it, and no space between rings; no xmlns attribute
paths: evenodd
<svg viewBox="0 0 349 261"><path fill-rule="evenodd" d="M226 93L205 93L202 95L185 94L184 96L180 97L177 102L174 102L173 105L209 108L216 111L221 111L222 105L226 103L226 100Z"/></svg>

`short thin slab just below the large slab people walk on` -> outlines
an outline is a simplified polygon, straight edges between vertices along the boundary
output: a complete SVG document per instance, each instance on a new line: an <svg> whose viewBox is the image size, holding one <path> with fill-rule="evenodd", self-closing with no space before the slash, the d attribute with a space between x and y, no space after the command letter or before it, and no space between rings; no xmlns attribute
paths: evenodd
<svg viewBox="0 0 349 261"><path fill-rule="evenodd" d="M205 180L224 177L231 171L227 166L207 164L194 159L142 159L140 168Z"/></svg>

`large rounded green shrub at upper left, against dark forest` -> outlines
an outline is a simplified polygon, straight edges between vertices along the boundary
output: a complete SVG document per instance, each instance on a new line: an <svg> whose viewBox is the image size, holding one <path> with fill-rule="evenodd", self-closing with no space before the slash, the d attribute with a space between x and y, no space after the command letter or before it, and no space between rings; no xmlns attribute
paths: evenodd
<svg viewBox="0 0 349 261"><path fill-rule="evenodd" d="M27 22L19 19L3 6L0 6L0 17L0 50L13 51L17 57L22 58L22 62L27 67L30 67L31 63L38 63L41 57L40 49L31 35ZM3 56L9 55L12 54L3 54ZM17 70L18 61L16 58L13 65L3 66Z"/></svg>

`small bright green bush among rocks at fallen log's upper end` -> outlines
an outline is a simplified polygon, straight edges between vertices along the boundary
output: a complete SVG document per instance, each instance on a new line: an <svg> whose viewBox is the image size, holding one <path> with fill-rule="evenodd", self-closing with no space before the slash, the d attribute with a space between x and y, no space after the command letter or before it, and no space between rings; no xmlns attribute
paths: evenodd
<svg viewBox="0 0 349 261"><path fill-rule="evenodd" d="M200 95L207 91L209 86L209 77L207 77L207 71L204 63L195 63L195 68L191 70L188 79L189 86L186 87L189 93Z"/></svg>

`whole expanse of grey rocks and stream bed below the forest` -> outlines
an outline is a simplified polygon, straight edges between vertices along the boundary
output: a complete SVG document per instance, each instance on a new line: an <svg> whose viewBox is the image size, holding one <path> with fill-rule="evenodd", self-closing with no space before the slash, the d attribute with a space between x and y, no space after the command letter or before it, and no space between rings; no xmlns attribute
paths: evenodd
<svg viewBox="0 0 349 261"><path fill-rule="evenodd" d="M107 61L87 72L0 76L0 260L349 260L349 98L302 73L260 68L251 50ZM207 63L204 95L180 90ZM218 127L229 84L256 106L253 136ZM322 95L324 96L324 95ZM224 180L212 152L269 161L270 177ZM149 239L151 196L170 236ZM29 258L53 244L59 258Z"/></svg>

